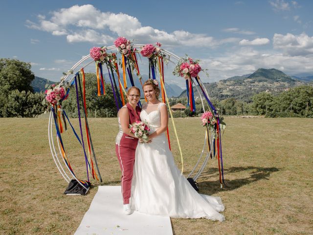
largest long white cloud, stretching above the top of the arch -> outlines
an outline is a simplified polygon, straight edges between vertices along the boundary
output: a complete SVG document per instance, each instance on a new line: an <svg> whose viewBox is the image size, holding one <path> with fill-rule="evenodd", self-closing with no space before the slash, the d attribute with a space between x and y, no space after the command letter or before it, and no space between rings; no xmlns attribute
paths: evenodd
<svg viewBox="0 0 313 235"><path fill-rule="evenodd" d="M26 26L56 36L66 35L69 43L90 42L107 45L113 42L115 37L110 35L114 34L138 39L139 43L161 41L163 45L169 46L216 47L224 43L238 41L234 38L217 40L207 34L191 33L184 30L166 32L151 26L144 26L136 17L124 13L101 12L90 4L62 8L53 11L51 15L50 19L38 15L37 23L27 20ZM241 33L251 34L253 32L241 31Z"/></svg>

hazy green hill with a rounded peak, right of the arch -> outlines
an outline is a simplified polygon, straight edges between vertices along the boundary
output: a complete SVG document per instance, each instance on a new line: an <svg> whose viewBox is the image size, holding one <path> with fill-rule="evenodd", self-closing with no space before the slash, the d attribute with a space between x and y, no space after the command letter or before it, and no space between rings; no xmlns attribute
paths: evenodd
<svg viewBox="0 0 313 235"><path fill-rule="evenodd" d="M233 76L225 80L213 83L205 83L211 98L223 100L226 98L235 98L250 102L254 94L260 92L280 93L294 86L304 85L303 81L292 79L282 71L276 69L258 69L252 74L243 76ZM186 96L186 91L179 97ZM199 96L195 90L195 96Z"/></svg>

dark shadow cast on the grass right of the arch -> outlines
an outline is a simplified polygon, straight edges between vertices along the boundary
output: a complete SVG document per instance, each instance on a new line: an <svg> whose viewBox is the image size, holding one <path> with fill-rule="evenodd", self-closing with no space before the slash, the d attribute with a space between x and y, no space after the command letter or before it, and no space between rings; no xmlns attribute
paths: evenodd
<svg viewBox="0 0 313 235"><path fill-rule="evenodd" d="M246 175L249 174L246 178L227 180L227 174L245 172ZM253 182L259 180L268 180L270 174L273 172L279 171L276 167L257 167L257 166L239 166L239 167L229 167L224 169L224 181L226 186L224 188L220 188L219 181L202 181L199 182L200 192L204 194L211 195L221 190L233 190L236 188L240 188L244 185L251 184ZM218 168L211 168L207 171L203 171L201 174L201 178L209 179L211 177L216 178L219 175Z"/></svg>

